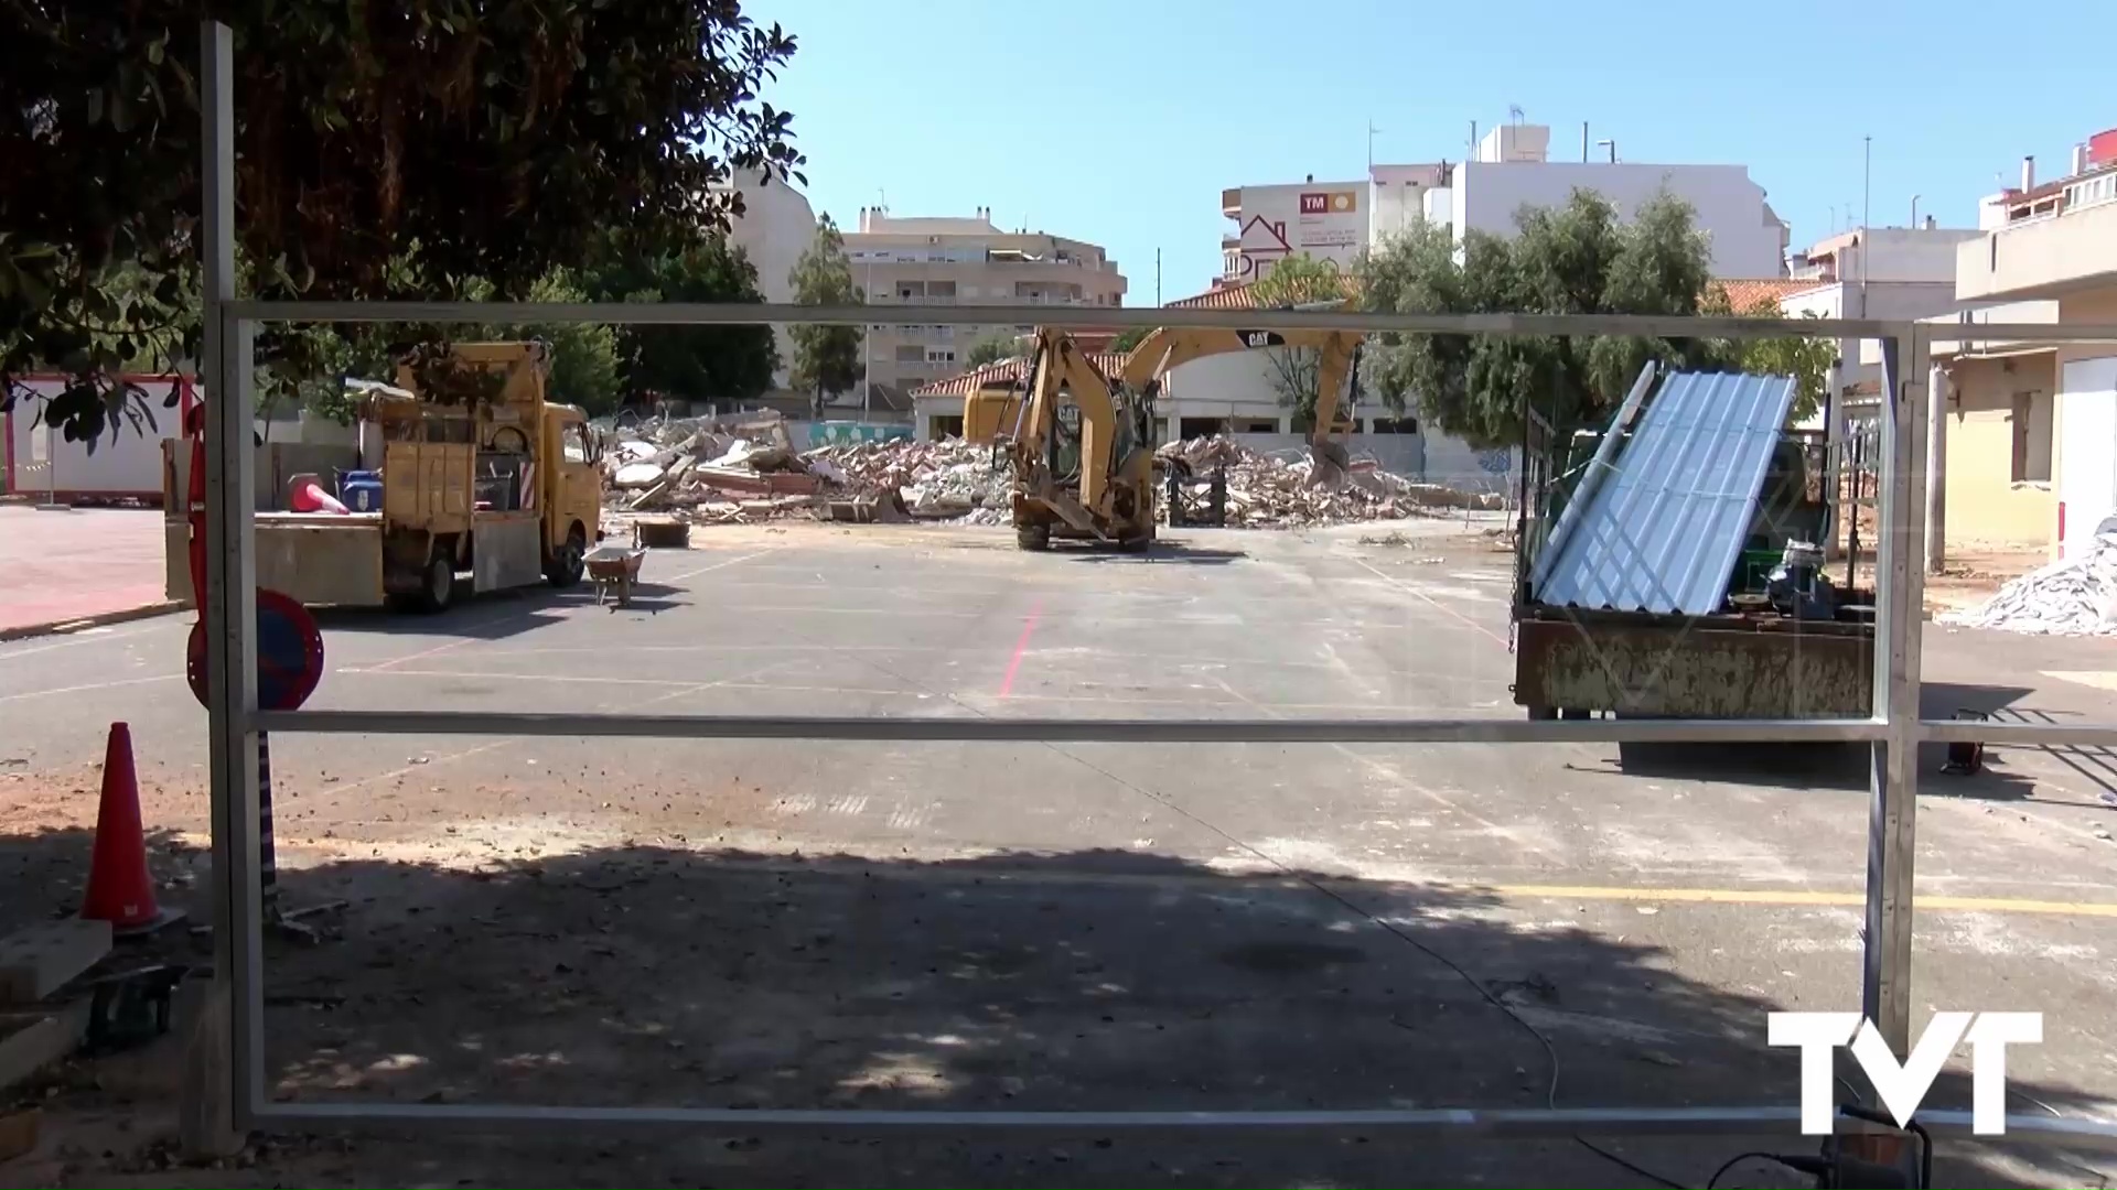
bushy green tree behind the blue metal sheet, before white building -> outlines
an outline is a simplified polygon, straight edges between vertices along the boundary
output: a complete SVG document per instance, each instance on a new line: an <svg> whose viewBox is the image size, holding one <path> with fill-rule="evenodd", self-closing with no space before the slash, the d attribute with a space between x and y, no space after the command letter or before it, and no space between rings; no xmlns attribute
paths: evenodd
<svg viewBox="0 0 2117 1190"><path fill-rule="evenodd" d="M1560 208L1522 208L1516 227L1461 246L1437 224L1395 235L1361 260L1361 301L1395 313L1700 313L1711 250L1681 199L1658 195L1620 222L1607 199L1575 191ZM1531 409L1558 436L1600 426L1649 358L1713 368L1723 356L1689 339L1376 335L1361 381L1393 411L1412 402L1446 434L1505 447Z"/></svg>

